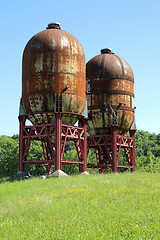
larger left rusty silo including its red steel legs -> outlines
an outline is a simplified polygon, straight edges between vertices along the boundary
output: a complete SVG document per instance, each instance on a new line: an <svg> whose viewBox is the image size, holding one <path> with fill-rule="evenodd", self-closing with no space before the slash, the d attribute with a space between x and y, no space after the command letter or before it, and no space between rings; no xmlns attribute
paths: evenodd
<svg viewBox="0 0 160 240"><path fill-rule="evenodd" d="M22 60L20 170L24 163L45 164L47 171L51 171L52 165L60 170L61 164L72 164L62 160L66 141L70 139L75 142L79 156L75 163L80 164L82 171L86 170L86 153L80 154L86 147L85 76L83 48L74 36L61 30L59 23L48 24L46 30L29 40ZM25 125L26 119L31 126ZM81 128L74 126L77 120ZM26 160L31 140L42 142L43 161Z"/></svg>

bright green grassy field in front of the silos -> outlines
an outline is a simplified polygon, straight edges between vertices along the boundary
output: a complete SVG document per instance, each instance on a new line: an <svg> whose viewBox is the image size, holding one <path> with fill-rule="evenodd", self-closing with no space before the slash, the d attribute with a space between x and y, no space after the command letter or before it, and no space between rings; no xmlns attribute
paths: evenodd
<svg viewBox="0 0 160 240"><path fill-rule="evenodd" d="M160 239L160 174L2 183L0 239Z"/></svg>

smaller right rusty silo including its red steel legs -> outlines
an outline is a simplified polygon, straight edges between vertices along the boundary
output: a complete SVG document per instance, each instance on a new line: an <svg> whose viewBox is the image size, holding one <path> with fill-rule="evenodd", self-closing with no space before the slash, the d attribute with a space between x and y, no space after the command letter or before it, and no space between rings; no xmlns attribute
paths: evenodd
<svg viewBox="0 0 160 240"><path fill-rule="evenodd" d="M120 148L124 147L129 167L134 171L134 157L131 156L134 154L134 144L129 143L134 140L126 140L126 145L122 141L134 123L134 76L131 67L113 54L111 49L102 49L100 55L86 64L86 85L88 132L91 135L89 142L94 142L92 136L98 135L101 139L98 140L101 145L96 145L101 159L99 165L105 165L106 162L108 164L102 166L103 168L110 166L113 171L117 171L117 167L120 167ZM121 142L118 142L118 138Z"/></svg>

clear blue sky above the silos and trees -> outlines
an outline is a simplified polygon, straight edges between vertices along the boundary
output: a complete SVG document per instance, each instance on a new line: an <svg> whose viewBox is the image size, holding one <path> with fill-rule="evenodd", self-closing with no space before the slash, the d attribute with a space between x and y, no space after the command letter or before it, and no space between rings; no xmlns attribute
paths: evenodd
<svg viewBox="0 0 160 240"><path fill-rule="evenodd" d="M160 133L159 0L1 0L0 135L19 132L23 50L50 22L60 22L79 40L86 62L102 48L112 48L129 63L137 129Z"/></svg>

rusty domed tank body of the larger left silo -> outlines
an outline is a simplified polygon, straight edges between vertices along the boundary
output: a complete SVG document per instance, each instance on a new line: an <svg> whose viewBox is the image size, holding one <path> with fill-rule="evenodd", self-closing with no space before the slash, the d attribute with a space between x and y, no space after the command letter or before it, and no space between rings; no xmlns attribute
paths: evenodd
<svg viewBox="0 0 160 240"><path fill-rule="evenodd" d="M21 104L25 113L82 114L85 91L85 55L78 40L52 28L33 36L23 53ZM47 118L41 120L47 122Z"/></svg>

